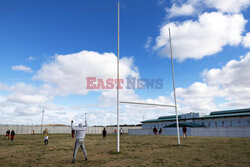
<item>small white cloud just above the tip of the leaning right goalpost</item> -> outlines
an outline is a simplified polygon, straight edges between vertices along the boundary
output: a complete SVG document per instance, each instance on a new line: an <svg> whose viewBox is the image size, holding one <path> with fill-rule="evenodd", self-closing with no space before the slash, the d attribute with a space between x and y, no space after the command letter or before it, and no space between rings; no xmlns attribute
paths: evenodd
<svg viewBox="0 0 250 167"><path fill-rule="evenodd" d="M175 17L175 16L191 16L194 15L197 11L194 8L192 4L183 4L181 6L178 6L176 4L173 4L171 8L166 8L166 12L169 13L169 17Z"/></svg>

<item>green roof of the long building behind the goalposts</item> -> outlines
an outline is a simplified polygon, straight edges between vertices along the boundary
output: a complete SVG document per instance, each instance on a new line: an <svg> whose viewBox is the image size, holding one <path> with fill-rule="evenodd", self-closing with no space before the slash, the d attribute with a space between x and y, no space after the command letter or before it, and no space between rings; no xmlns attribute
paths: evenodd
<svg viewBox="0 0 250 167"><path fill-rule="evenodd" d="M178 115L178 118L180 120L194 120L194 119L239 117L239 116L250 116L250 108L215 111L215 112L211 112L210 115L205 115L202 117L194 117L194 118L181 118L181 115ZM175 120L176 120L176 116L170 115L170 116L161 116L158 119L145 120L145 121L142 121L142 123L165 122L165 121L175 121Z"/></svg>

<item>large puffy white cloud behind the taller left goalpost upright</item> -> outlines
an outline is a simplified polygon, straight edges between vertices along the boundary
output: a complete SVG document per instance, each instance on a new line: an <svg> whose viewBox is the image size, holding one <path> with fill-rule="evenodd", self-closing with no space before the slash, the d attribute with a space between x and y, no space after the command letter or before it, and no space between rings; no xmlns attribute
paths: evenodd
<svg viewBox="0 0 250 167"><path fill-rule="evenodd" d="M33 79L54 85L60 90L61 95L85 95L91 91L86 89L86 77L116 78L116 61L113 53L82 51L56 55L53 61L42 66ZM126 76L138 78L139 73L133 59L124 57L120 59L120 78Z"/></svg>

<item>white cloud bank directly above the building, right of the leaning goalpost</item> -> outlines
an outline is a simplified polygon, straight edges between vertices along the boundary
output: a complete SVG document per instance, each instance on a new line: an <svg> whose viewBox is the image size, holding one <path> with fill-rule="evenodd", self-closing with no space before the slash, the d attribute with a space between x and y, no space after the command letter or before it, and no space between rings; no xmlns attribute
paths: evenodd
<svg viewBox="0 0 250 167"><path fill-rule="evenodd" d="M202 77L204 82L176 89L181 113L250 107L250 52L221 68L204 70Z"/></svg>

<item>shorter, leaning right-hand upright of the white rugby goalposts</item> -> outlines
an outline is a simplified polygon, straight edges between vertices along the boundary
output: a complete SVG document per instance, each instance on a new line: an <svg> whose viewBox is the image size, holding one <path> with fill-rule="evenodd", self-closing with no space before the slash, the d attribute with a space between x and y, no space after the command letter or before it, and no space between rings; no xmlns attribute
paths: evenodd
<svg viewBox="0 0 250 167"><path fill-rule="evenodd" d="M170 28L168 30L169 30L170 56L171 56L172 75L173 75L174 103L175 103L175 114L176 114L176 129L177 129L178 145L180 145L181 142L180 142L179 120L178 120L177 102L176 102L176 93L175 93L174 63L173 63L173 56L172 56L172 43L171 43Z"/></svg>

